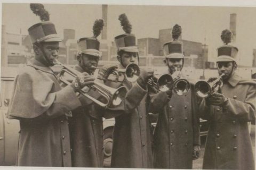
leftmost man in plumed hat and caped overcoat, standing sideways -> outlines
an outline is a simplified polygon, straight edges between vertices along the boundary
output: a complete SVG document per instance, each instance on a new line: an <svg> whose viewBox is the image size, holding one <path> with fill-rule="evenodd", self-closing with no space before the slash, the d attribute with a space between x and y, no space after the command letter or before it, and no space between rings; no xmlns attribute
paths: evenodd
<svg viewBox="0 0 256 170"><path fill-rule="evenodd" d="M70 167L67 116L71 116L71 110L81 106L75 92L94 84L94 78L83 73L61 89L50 67L58 58L61 39L54 24L47 21L49 15L41 15L49 14L44 6L30 4L30 8L46 20L28 29L35 58L19 70L7 112L9 118L20 121L17 165Z"/></svg>

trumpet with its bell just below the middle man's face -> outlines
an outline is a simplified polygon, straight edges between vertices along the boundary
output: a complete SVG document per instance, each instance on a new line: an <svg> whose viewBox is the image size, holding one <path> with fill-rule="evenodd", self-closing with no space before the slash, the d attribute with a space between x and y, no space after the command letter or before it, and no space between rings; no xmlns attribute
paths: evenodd
<svg viewBox="0 0 256 170"><path fill-rule="evenodd" d="M113 76L110 76L108 80L114 81L114 82L124 82L125 80L129 82L134 82L139 78L137 67L138 67L137 64L131 63L127 65L125 69L115 69L110 74L110 75L113 75L114 78ZM119 80L123 74L125 79Z"/></svg>

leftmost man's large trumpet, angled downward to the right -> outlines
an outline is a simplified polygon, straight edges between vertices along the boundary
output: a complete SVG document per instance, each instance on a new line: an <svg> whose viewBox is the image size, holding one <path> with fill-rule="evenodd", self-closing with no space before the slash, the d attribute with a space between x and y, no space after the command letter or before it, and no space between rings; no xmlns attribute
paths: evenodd
<svg viewBox="0 0 256 170"><path fill-rule="evenodd" d="M60 81L62 81L63 83L65 83L67 85L69 85L71 83L64 78L65 73L71 75L74 78L76 78L78 74L81 74L80 72L72 69L71 67L63 65L57 59L55 59L53 63L59 64L64 67L64 69L62 69L60 71L59 79L60 79ZM110 87L106 86L105 84L101 84L101 83L95 82L95 81L94 81L94 85L89 86L89 89L98 90L99 94L103 98L105 98L106 103L102 103L101 101L94 99L92 96L86 94L88 91L79 90L78 92L79 92L79 94L91 99L92 101L94 101L94 103L98 104L101 107L113 107L113 106L119 105L127 93L126 88L123 86L119 87L118 89L114 89L114 88L110 88Z"/></svg>

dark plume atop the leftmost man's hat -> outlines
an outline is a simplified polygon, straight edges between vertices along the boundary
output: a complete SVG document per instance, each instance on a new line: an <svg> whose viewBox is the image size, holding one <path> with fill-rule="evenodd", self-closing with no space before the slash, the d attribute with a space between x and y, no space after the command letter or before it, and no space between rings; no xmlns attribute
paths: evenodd
<svg viewBox="0 0 256 170"><path fill-rule="evenodd" d="M33 11L36 16L40 16L41 21L49 21L50 14L45 10L43 4L30 4L30 9Z"/></svg>

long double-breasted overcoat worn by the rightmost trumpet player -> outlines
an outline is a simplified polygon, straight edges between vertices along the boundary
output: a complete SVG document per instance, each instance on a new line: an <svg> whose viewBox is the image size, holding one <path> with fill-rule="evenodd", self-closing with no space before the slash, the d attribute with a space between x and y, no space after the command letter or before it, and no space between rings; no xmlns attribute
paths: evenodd
<svg viewBox="0 0 256 170"><path fill-rule="evenodd" d="M223 84L225 107L205 106L200 111L210 121L203 169L255 169L247 122L255 120L256 83L237 73Z"/></svg>

